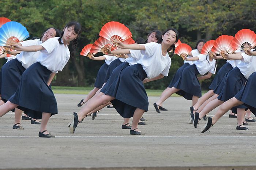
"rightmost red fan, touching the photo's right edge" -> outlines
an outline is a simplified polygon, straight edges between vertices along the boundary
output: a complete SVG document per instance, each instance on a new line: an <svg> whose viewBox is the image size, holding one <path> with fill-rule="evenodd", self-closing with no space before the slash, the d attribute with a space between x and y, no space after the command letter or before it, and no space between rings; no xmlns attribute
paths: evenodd
<svg viewBox="0 0 256 170"><path fill-rule="evenodd" d="M249 29L238 31L233 39L232 46L234 49L251 50L256 46L256 34Z"/></svg>

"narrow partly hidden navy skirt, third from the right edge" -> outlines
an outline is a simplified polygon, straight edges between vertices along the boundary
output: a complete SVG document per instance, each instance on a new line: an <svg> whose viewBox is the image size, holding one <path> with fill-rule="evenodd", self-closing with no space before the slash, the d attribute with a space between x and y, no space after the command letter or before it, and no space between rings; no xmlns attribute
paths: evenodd
<svg viewBox="0 0 256 170"><path fill-rule="evenodd" d="M225 65L223 65L221 67L221 69L219 69L218 73L216 74L216 76L214 77L211 85L209 86L210 90L214 90L218 84L221 82L221 80L223 79L223 77L225 77L226 73L233 69L233 67L231 66L230 63L226 63Z"/></svg>

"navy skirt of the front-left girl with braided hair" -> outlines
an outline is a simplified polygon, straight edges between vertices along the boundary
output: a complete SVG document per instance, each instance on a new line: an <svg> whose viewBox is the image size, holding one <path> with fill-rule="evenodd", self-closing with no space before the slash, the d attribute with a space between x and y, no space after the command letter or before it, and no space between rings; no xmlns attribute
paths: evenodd
<svg viewBox="0 0 256 170"><path fill-rule="evenodd" d="M17 108L34 119L42 119L42 112L57 114L56 99L47 85L51 73L40 63L34 63L22 74L20 84L9 101L18 104Z"/></svg>

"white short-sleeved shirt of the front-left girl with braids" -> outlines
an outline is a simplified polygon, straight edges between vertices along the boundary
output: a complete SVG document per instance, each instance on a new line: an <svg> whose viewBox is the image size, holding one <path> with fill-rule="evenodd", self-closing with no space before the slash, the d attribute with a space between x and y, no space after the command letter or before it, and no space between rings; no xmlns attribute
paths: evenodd
<svg viewBox="0 0 256 170"><path fill-rule="evenodd" d="M54 37L46 40L41 44L45 48L37 58L37 62L45 66L53 73L58 73L67 64L70 52L68 46L59 43L59 37ZM61 40L62 41L62 40Z"/></svg>

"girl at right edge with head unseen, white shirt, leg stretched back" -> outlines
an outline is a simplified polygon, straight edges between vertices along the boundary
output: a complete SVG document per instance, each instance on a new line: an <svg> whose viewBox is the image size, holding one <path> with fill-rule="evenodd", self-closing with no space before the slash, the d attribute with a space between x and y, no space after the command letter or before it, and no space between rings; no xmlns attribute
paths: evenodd
<svg viewBox="0 0 256 170"><path fill-rule="evenodd" d="M256 71L256 57L242 54L227 54L224 56L229 60L241 60L238 63L237 67L231 69L228 74L223 78L223 86L222 91L218 95L218 97L211 102L209 102L204 109L198 113L195 113L194 126L197 125L198 121L214 108L218 107L225 101L234 97L245 85L248 77ZM237 108L237 130L248 130L243 125L244 115L245 115L245 106L239 105Z"/></svg>

